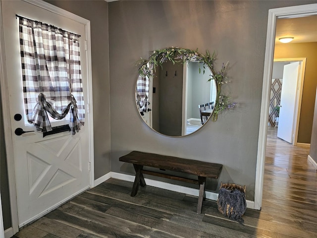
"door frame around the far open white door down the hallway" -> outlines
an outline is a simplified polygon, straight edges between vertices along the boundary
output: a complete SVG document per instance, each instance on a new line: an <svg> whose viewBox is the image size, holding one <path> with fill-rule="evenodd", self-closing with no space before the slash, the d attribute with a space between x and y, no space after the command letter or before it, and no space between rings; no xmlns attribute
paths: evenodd
<svg viewBox="0 0 317 238"><path fill-rule="evenodd" d="M294 112L294 137L293 137L293 145L297 146L298 139L298 129L299 129L299 119L301 116L301 108L302 108L302 96L304 89L304 78L305 78L305 68L306 68L306 58L282 58L282 59L274 59L273 62L300 62L300 74L297 78L297 89L296 89L296 98L295 98L295 112ZM282 82L283 87L283 82Z"/></svg>

